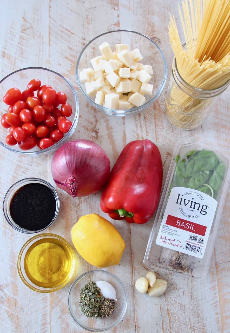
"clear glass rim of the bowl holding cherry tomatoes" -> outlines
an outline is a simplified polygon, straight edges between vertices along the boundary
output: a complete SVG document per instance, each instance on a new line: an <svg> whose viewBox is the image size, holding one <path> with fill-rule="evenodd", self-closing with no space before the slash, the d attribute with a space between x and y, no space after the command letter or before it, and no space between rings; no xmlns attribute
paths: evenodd
<svg viewBox="0 0 230 333"><path fill-rule="evenodd" d="M37 151L16 150L16 149L13 148L13 146L8 146L4 142L2 142L1 140L0 140L0 145L2 147L4 147L4 148L8 149L10 152L17 153L17 154L20 154L20 155L26 155L26 156L46 155L46 154L52 153L55 150L57 150L74 133L74 131L75 131L76 127L77 127L78 118L79 118L79 102L78 102L78 97L77 97L76 91L73 88L73 86L71 85L71 83L62 74L59 74L59 73L57 73L57 72L55 72L55 71L53 71L51 69L45 68L45 67L25 67L25 68L18 69L16 71L8 74L7 76L5 76L2 80L0 80L0 84L3 83L4 80L6 80L7 78L9 78L11 75L19 73L19 72L22 72L24 70L30 70L30 69L44 70L44 71L48 71L48 72L51 72L53 74L56 74L61 79L63 79L67 83L67 85L70 87L70 89L71 89L71 91L73 93L74 99L75 99L75 110L76 110L72 126L71 126L70 130L66 133L66 135L60 141L56 142L53 146L48 147L46 149L37 150Z"/></svg>

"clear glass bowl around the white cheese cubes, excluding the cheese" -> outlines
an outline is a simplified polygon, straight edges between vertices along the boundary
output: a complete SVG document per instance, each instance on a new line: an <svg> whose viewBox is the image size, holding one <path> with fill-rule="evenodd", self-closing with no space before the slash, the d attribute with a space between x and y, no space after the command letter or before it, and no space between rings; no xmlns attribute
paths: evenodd
<svg viewBox="0 0 230 333"><path fill-rule="evenodd" d="M99 45L104 42L108 42L110 44L112 51L115 51L115 44L128 44L130 50L135 48L139 49L141 55L143 56L143 59L140 62L144 65L152 66L153 75L149 84L153 85L153 91L152 96L145 96L145 104L129 110L112 110L96 104L94 100L87 95L85 84L80 81L79 73L84 68L92 68L90 60L102 55L99 50ZM84 47L77 61L76 76L81 92L93 107L108 115L125 116L145 110L158 98L164 88L167 78L167 64L161 49L149 37L135 31L115 30L95 37Z"/></svg>

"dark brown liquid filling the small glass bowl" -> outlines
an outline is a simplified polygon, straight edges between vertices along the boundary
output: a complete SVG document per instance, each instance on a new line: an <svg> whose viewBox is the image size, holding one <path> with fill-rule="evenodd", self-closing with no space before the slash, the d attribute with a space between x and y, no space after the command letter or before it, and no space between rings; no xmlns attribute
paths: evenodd
<svg viewBox="0 0 230 333"><path fill-rule="evenodd" d="M21 228L39 230L50 224L56 207L54 193L49 187L31 183L14 193L10 202L10 215Z"/></svg>

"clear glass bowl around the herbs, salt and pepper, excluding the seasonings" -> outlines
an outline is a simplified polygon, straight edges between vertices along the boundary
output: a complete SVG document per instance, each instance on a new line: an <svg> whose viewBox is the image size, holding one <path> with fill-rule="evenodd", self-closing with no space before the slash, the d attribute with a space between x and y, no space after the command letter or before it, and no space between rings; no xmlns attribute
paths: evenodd
<svg viewBox="0 0 230 333"><path fill-rule="evenodd" d="M105 280L116 290L116 306L114 312L107 318L88 318L79 306L79 296L82 287L91 281ZM79 276L70 287L68 307L74 321L82 328L92 332L103 332L115 327L124 317L127 309L127 293L122 282L112 273L96 269Z"/></svg>

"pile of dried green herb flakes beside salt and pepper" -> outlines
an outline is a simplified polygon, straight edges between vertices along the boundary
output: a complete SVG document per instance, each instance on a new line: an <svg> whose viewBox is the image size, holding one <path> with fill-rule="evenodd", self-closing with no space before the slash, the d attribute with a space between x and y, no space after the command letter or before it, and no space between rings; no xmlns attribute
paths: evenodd
<svg viewBox="0 0 230 333"><path fill-rule="evenodd" d="M90 282L81 289L80 308L87 317L97 318L99 316L99 308L104 299L96 283Z"/></svg>

